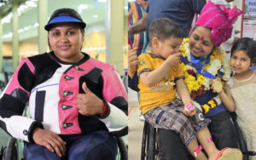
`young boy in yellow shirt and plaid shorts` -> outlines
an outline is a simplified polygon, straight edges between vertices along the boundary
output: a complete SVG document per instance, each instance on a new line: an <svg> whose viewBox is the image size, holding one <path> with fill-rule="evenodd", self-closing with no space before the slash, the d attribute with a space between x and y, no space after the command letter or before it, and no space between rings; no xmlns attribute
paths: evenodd
<svg viewBox="0 0 256 160"><path fill-rule="evenodd" d="M137 69L140 109L146 121L155 128L172 129L180 134L195 159L241 159L241 151L237 149L218 151L207 129L211 121L192 105L179 64L182 28L172 20L157 19L149 26L148 37L152 49L138 57ZM176 90L181 100L176 98ZM201 151L202 146L207 157Z"/></svg>

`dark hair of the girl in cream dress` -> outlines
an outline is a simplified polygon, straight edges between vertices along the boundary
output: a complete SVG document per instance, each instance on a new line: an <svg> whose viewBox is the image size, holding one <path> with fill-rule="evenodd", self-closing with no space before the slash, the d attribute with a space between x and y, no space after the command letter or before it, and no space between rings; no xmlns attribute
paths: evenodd
<svg viewBox="0 0 256 160"><path fill-rule="evenodd" d="M232 46L231 55L236 50L243 50L246 52L252 63L256 62L256 42L250 37L242 37L236 41Z"/></svg>

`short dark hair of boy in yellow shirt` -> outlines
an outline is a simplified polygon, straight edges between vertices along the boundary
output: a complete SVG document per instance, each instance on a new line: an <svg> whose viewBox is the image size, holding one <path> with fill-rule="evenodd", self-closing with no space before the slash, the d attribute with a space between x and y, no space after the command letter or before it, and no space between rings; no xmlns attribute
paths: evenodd
<svg viewBox="0 0 256 160"><path fill-rule="evenodd" d="M183 29L174 21L167 18L159 18L150 24L148 28L149 45L151 46L152 38L157 37L160 41L164 41L170 37L184 37Z"/></svg>

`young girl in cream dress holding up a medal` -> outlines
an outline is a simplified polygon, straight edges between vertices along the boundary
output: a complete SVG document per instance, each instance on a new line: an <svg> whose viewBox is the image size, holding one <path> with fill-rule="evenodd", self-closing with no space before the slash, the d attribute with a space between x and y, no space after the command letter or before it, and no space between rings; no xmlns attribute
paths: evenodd
<svg viewBox="0 0 256 160"><path fill-rule="evenodd" d="M218 92L228 110L236 110L237 122L249 151L256 151L256 128L253 127L256 123L256 71L250 69L256 60L255 50L256 42L253 39L239 39L231 49L230 66L235 72L234 76L224 89L220 81L212 81L213 91Z"/></svg>

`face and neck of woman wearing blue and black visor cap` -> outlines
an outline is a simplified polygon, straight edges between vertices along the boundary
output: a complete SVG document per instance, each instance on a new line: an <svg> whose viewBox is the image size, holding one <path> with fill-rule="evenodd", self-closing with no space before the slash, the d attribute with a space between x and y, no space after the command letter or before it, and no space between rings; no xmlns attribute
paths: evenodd
<svg viewBox="0 0 256 160"><path fill-rule="evenodd" d="M80 50L84 42L84 32L73 23L61 23L49 31L49 45L61 61L78 62L84 55Z"/></svg>

